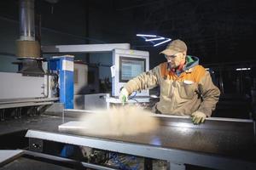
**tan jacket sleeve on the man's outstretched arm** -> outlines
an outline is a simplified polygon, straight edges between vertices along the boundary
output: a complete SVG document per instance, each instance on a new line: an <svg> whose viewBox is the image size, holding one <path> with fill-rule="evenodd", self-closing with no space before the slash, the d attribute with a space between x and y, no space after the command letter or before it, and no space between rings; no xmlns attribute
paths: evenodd
<svg viewBox="0 0 256 170"><path fill-rule="evenodd" d="M139 76L131 79L125 84L125 88L128 93L131 94L137 90L155 88L159 84L160 66L154 67L154 69L143 72Z"/></svg>

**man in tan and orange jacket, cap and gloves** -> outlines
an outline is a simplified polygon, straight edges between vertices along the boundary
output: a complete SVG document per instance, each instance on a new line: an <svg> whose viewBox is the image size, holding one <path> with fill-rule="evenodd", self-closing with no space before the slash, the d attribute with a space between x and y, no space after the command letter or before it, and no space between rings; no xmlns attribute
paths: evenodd
<svg viewBox="0 0 256 170"><path fill-rule="evenodd" d="M195 124L204 122L212 115L220 95L209 72L199 65L197 57L187 55L187 45L179 39L170 42L160 54L167 61L127 82L119 99L126 102L134 91L160 86L156 113L191 116Z"/></svg>

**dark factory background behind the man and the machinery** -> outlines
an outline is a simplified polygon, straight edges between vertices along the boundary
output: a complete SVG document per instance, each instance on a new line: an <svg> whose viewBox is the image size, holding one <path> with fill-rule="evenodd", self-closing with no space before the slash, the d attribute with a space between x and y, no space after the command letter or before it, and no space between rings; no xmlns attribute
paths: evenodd
<svg viewBox="0 0 256 170"><path fill-rule="evenodd" d="M182 39L221 90L213 116L248 118L256 95L255 11L253 0L36 0L35 23L43 46L127 42L149 52L150 68L165 61L159 52L166 43L154 47L137 33ZM0 71L16 72L17 0L1 2L0 37ZM108 92L111 55L76 54L75 59L96 65L99 91Z"/></svg>

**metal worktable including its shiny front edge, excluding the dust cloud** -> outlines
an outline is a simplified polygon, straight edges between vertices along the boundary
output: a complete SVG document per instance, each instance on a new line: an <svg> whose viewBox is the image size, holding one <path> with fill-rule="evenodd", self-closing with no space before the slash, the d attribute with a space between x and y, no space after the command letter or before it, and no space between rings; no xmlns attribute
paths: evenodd
<svg viewBox="0 0 256 170"><path fill-rule="evenodd" d="M27 138L44 139L117 151L134 156L151 157L217 169L255 169L253 121L208 118L200 126L189 117L159 116L160 127L150 133L122 136L100 136L79 133L66 125L77 116L91 112L71 111L74 118L50 116L26 133ZM68 116L68 112L65 112ZM59 120L58 120L59 119ZM49 127L44 127L48 122ZM54 124L54 125L53 125ZM58 126L59 132L57 132Z"/></svg>

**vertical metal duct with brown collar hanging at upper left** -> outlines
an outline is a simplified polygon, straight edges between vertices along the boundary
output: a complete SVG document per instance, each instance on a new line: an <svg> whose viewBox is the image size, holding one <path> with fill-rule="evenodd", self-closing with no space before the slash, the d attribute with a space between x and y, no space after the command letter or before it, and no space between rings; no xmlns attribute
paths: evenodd
<svg viewBox="0 0 256 170"><path fill-rule="evenodd" d="M35 35L35 1L20 0L20 39L16 41L19 71L26 76L44 76L40 44Z"/></svg>

